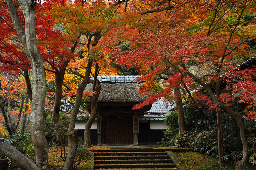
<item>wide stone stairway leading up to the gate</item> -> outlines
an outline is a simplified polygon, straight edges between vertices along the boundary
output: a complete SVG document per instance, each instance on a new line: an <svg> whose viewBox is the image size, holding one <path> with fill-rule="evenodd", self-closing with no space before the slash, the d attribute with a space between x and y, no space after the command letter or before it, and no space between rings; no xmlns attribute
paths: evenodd
<svg viewBox="0 0 256 170"><path fill-rule="evenodd" d="M94 152L94 170L178 170L163 149L104 149Z"/></svg>

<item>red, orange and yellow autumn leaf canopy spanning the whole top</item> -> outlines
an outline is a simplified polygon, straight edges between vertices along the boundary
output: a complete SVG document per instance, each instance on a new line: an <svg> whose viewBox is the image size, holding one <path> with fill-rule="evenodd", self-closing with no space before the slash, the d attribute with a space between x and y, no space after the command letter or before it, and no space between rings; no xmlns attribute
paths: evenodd
<svg viewBox="0 0 256 170"><path fill-rule="evenodd" d="M23 32L15 30L7 2L15 6ZM0 0L1 118L7 125L10 115L18 115L10 120L16 129L21 114L29 114L24 96L32 100L35 81L31 51L18 36L25 30L20 2ZM134 109L161 98L173 101L179 88L179 97L191 105L225 110L239 122L232 110L237 102L246 105L244 119L256 118L255 62L238 66L255 55L255 0L37 0L31 8L34 3L51 123L58 122L62 98L74 101L86 78L93 76L95 85L97 75L121 74L111 63L139 73L139 92L148 99ZM98 93L83 91L82 98L92 101Z"/></svg>

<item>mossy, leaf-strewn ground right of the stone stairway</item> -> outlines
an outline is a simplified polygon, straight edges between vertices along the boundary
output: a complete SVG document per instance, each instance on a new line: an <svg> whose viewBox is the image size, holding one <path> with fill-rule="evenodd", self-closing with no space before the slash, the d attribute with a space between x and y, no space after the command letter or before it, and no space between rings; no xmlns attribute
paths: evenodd
<svg viewBox="0 0 256 170"><path fill-rule="evenodd" d="M187 170L233 170L234 164L230 165L218 164L218 159L211 158L197 152L175 152L180 162ZM246 167L245 170L252 170Z"/></svg>

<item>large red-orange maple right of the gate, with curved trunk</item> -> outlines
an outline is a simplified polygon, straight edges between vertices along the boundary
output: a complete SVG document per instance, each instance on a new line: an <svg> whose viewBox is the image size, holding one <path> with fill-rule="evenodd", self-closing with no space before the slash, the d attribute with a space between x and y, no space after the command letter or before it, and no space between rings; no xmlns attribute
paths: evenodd
<svg viewBox="0 0 256 170"><path fill-rule="evenodd" d="M253 3L193 1L169 12L142 17L140 26L135 29L113 29L108 37L112 44L103 42L105 50L120 65L138 67L141 76L137 81L142 82L140 92L149 96L152 91L156 93L135 109L161 97L174 100L179 95L175 93L178 87L193 103L216 110L219 163L223 162L221 109L234 117L243 144L243 158L236 169L243 169L248 161L248 147L243 121L230 103L236 99L248 103L250 108L255 107L252 103L255 101L255 69L234 69L244 57L252 55L247 42L255 39L253 17L248 19L254 16ZM137 10L132 5L129 9ZM113 32L117 32L115 36ZM130 50L119 48L116 43L120 41L129 45ZM254 95L245 97L246 93ZM249 113L251 117L254 111Z"/></svg>

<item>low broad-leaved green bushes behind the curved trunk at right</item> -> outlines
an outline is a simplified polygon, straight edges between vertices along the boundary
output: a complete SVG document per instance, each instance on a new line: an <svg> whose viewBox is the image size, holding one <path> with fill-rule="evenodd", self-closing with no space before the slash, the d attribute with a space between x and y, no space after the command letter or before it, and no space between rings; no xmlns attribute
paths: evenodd
<svg viewBox="0 0 256 170"><path fill-rule="evenodd" d="M256 164L256 127L247 128L246 135L249 163ZM239 160L242 158L242 148L233 147L233 143L227 142L227 138L223 139L223 143L224 160L230 158L233 160ZM171 144L171 146L193 148L197 152L218 158L218 129L209 128L206 130L187 130L172 138L169 144Z"/></svg>

